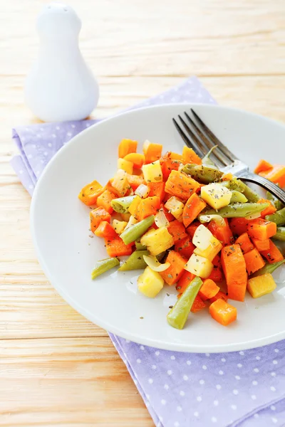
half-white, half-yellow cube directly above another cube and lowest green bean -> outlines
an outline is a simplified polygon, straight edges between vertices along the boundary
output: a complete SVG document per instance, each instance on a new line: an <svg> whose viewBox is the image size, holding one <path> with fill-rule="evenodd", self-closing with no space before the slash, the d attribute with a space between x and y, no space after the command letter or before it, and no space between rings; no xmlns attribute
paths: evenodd
<svg viewBox="0 0 285 427"><path fill-rule="evenodd" d="M222 243L212 235L208 228L202 225L196 229L192 242L197 246L194 253L209 261L212 261L222 249Z"/></svg>

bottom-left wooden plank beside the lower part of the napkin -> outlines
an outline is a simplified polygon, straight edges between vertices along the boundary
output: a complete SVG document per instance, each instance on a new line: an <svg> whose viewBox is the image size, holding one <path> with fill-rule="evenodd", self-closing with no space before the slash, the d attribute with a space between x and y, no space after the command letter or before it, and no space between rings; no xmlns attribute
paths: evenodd
<svg viewBox="0 0 285 427"><path fill-rule="evenodd" d="M110 339L0 345L0 426L153 426Z"/></svg>

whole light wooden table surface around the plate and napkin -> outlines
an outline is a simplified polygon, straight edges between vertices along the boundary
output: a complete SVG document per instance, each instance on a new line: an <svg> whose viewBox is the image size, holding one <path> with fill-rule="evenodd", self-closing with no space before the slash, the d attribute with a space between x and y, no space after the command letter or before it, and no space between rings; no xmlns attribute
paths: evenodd
<svg viewBox="0 0 285 427"><path fill-rule="evenodd" d="M39 0L1 0L0 426L153 426L105 330L38 265L30 196L9 165L11 127L36 122L24 78ZM197 75L223 105L285 120L284 0L70 0L103 117Z"/></svg>

